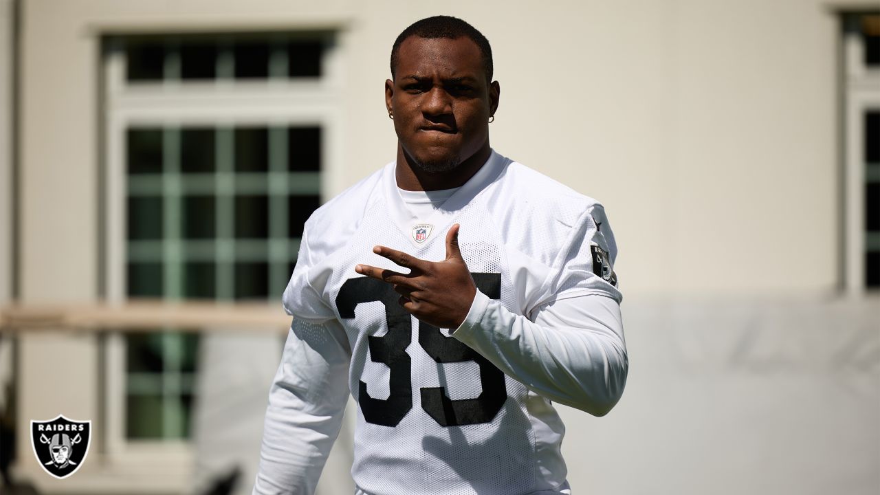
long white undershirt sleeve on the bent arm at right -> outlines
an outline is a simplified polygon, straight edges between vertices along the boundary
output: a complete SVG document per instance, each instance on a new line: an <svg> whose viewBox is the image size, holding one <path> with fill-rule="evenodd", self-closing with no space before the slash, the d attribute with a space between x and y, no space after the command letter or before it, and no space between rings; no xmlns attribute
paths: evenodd
<svg viewBox="0 0 880 495"><path fill-rule="evenodd" d="M539 307L534 321L477 292L452 336L532 391L603 416L627 383L620 304L582 293Z"/></svg>

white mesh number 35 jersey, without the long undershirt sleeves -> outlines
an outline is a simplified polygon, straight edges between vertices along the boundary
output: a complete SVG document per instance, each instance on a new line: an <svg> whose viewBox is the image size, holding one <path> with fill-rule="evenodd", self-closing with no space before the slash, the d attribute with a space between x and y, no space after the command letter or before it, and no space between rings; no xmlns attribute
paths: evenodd
<svg viewBox="0 0 880 495"><path fill-rule="evenodd" d="M358 487L368 493L532 493L566 487L564 427L544 396L400 307L390 285L361 277L383 245L441 260L458 242L480 292L532 318L548 301L600 294L620 302L602 206L493 151L431 218L414 218L395 164L357 183L306 222L286 310L306 324L338 321L350 349ZM429 225L418 239L414 225ZM422 236L425 231L422 230ZM601 264L601 267L598 265ZM332 441L332 440L331 440Z"/></svg>

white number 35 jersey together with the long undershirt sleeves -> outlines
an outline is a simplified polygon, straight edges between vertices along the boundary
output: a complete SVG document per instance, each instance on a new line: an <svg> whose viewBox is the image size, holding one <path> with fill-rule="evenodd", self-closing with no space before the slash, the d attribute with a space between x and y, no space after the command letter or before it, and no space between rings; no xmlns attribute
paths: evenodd
<svg viewBox="0 0 880 495"><path fill-rule="evenodd" d="M479 289L458 329L355 271L406 271L377 245L443 260L456 223ZM551 400L605 414L626 381L616 251L599 203L495 151L427 218L407 209L394 163L348 188L306 222L284 292L294 324L254 493L314 490L349 392L359 492L568 492Z"/></svg>

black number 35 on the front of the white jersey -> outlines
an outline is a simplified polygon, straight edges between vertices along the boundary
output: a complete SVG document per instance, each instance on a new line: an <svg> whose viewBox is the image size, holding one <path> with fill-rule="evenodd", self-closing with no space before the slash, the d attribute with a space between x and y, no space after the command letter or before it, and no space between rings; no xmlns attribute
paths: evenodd
<svg viewBox="0 0 880 495"><path fill-rule="evenodd" d="M501 299L501 274L472 273L477 290L491 299ZM407 347L412 341L412 318L398 304L400 294L392 286L369 277L349 278L336 296L336 307L343 319L355 317L358 304L380 301L385 306L388 333L369 336L370 358L391 369L387 399L375 399L367 393L367 384L360 381L358 403L363 417L374 425L396 426L413 409L412 360ZM444 336L440 329L419 322L419 344L437 363L474 361L480 366L482 393L473 399L452 400L444 387L422 387L422 410L443 426L488 423L495 418L507 400L504 373L477 351Z"/></svg>

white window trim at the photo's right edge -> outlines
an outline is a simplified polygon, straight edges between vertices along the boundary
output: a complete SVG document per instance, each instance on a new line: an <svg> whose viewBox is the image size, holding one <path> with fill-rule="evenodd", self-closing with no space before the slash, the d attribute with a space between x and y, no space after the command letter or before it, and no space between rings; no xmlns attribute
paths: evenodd
<svg viewBox="0 0 880 495"><path fill-rule="evenodd" d="M869 108L880 110L880 69L869 69L864 63L864 44L859 33L844 33L843 58L846 218L844 286L848 295L862 297L866 293L863 119Z"/></svg>

